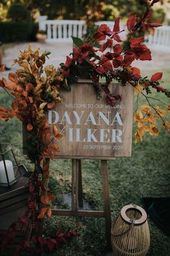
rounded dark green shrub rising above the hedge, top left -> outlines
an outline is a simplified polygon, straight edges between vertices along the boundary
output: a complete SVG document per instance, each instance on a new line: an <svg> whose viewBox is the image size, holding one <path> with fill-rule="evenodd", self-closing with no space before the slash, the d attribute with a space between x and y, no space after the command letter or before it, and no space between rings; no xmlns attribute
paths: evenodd
<svg viewBox="0 0 170 256"><path fill-rule="evenodd" d="M9 7L7 17L15 22L30 21L30 11L23 4L12 4Z"/></svg>

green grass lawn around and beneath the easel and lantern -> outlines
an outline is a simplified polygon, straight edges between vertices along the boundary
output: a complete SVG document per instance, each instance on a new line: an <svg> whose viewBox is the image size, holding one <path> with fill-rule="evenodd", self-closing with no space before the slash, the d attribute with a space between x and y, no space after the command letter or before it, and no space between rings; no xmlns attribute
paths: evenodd
<svg viewBox="0 0 170 256"><path fill-rule="evenodd" d="M153 72L145 72L151 76ZM169 70L164 71L165 86L169 87ZM170 87L169 87L170 88ZM169 103L163 93L154 93L161 101ZM11 99L4 91L0 91L0 105L9 106ZM139 98L140 103L145 103ZM154 105L158 104L155 102ZM158 104L159 105L159 104ZM135 108L135 104L134 104ZM135 125L133 127L133 138ZM22 124L17 119L0 123L0 141L11 142L14 152L20 162L31 167L22 155ZM133 142L131 158L117 158L108 161L109 187L112 221L124 205L134 203L143 206L142 197L168 197L170 196L169 174L169 135L164 129L158 137L145 136L143 142ZM103 208L103 195L99 161L82 161L84 198L90 202L93 209ZM63 203L63 193L70 192L71 161L54 160L50 162L49 187L56 195L57 208L66 208ZM79 223L80 236L71 243L58 249L60 256L97 256L107 252L107 242L104 233L103 218L74 218L56 217L45 221L45 232L68 227L75 229ZM170 238L156 226L150 218L148 223L151 231L151 247L148 256L169 256ZM53 253L53 256L56 253Z"/></svg>

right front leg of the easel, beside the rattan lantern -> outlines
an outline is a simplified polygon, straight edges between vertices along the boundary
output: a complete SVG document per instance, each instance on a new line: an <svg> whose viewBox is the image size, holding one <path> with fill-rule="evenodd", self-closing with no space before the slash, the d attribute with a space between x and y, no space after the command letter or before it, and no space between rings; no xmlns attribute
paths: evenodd
<svg viewBox="0 0 170 256"><path fill-rule="evenodd" d="M106 232L107 232L107 243L111 248L111 216L110 216L110 205L109 205L109 179L107 171L107 161L101 161L101 171L102 171L102 184L103 184L103 194L104 194L104 213L106 221Z"/></svg>

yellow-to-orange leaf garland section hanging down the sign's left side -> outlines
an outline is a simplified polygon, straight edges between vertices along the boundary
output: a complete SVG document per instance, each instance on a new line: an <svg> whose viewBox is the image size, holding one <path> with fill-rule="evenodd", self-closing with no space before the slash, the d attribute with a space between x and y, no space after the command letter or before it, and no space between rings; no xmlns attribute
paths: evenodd
<svg viewBox="0 0 170 256"><path fill-rule="evenodd" d="M43 166L46 157L53 158L58 152L58 146L54 144L54 139L61 139L62 135L53 125L53 135L50 135L50 126L45 116L45 109L55 106L61 101L58 93L58 82L64 80L64 72L61 69L55 70L52 65L45 67L45 76L42 76L43 64L48 52L40 55L40 50L33 51L29 48L21 53L18 59L14 60L22 69L17 69L16 73L9 73L9 82L5 78L0 80L0 86L13 98L12 109L0 106L0 120L8 121L9 118L17 116L27 128L27 156L35 169L29 179L30 196L27 202L27 210L22 218L12 223L1 239L0 249L12 244L16 238L17 228L21 224L28 223L22 231L31 230L29 237L19 242L14 248L14 255L19 255L23 251L30 252L31 255L48 252L66 243L67 240L77 236L77 231L57 231L51 238L42 237L42 219L50 218L50 203L55 196L45 187L45 181L49 177L48 165ZM1 71L4 69L1 67ZM24 68L24 69L23 69ZM60 74L62 72L62 74ZM9 93L9 91L12 93ZM40 174L43 174L42 176ZM40 197L40 193L42 194ZM41 210L40 208L41 202Z"/></svg>

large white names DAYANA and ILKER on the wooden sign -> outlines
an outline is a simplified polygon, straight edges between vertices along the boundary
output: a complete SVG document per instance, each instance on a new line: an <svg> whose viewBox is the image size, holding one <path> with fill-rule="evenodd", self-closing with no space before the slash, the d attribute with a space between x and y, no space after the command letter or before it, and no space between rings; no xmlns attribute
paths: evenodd
<svg viewBox="0 0 170 256"><path fill-rule="evenodd" d="M57 111L51 110L48 111L48 121L49 124L63 124L63 127L67 127L68 142L122 143L123 123L119 112L116 112L115 116L112 116L111 111L107 111L106 113L99 111L94 116L92 111L86 113L86 111L78 112L74 110L71 112L65 111L62 116L59 116ZM81 128L79 128L79 125L82 124L86 126L84 132L81 132ZM74 125L78 127L73 127ZM91 125L95 129L88 127ZM112 127L112 129L99 128L102 125L109 128ZM117 127L120 129L117 129Z"/></svg>

